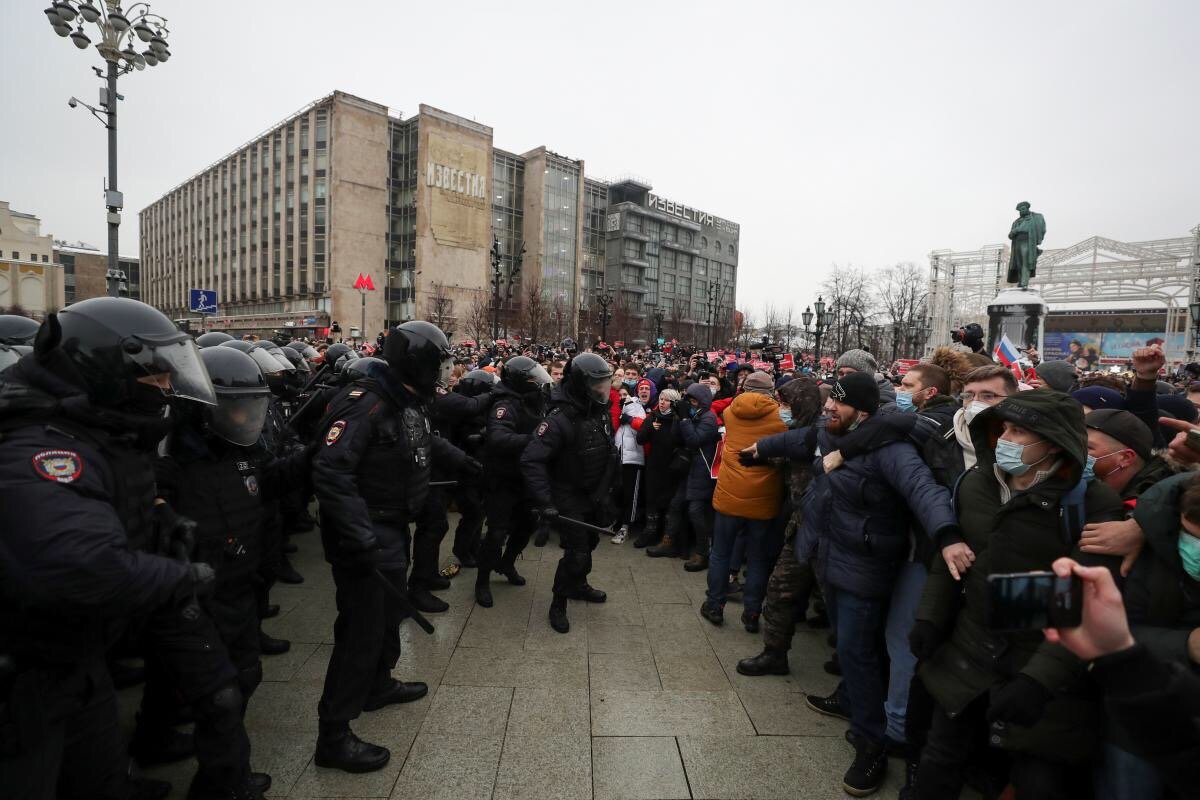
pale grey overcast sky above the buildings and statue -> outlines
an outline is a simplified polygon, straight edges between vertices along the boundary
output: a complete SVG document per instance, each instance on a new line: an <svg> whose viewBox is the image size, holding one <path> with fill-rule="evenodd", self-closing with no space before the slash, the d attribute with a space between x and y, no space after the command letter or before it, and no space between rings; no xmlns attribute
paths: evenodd
<svg viewBox="0 0 1200 800"><path fill-rule="evenodd" d="M0 0L0 199L103 247L104 131L66 103L96 102L101 59L44 5ZM1022 199L1048 248L1200 223L1193 0L152 6L173 58L120 82L122 253L138 210L334 89L740 223L743 308L1003 241Z"/></svg>

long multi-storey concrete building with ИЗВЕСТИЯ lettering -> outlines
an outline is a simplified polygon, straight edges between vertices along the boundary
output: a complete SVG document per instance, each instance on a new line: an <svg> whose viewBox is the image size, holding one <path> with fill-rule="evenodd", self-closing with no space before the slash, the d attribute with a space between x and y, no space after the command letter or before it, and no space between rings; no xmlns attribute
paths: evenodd
<svg viewBox="0 0 1200 800"><path fill-rule="evenodd" d="M655 303L671 318L678 301L680 330L703 325L710 282L732 313L739 233L648 182L589 179L583 161L545 148L496 148L486 125L424 104L403 118L340 91L168 191L140 223L142 295L168 315L188 317L190 289L215 289L215 330L367 338L408 319L488 338L493 242L509 335L599 331L605 287L631 339L649 335ZM718 239L720 254L702 253ZM360 273L377 290L355 289Z"/></svg>

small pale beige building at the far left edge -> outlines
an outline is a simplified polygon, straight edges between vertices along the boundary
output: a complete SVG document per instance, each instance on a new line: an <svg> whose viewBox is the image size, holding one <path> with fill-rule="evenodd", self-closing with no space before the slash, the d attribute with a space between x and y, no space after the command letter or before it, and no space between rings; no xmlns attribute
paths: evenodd
<svg viewBox="0 0 1200 800"><path fill-rule="evenodd" d="M0 309L19 306L42 318L65 305L62 265L42 221L0 200Z"/></svg>

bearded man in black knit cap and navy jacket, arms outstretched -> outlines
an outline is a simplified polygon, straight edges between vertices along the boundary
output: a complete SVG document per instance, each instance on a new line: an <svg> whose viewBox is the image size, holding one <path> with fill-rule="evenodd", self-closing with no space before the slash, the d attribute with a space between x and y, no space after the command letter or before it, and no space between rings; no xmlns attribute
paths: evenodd
<svg viewBox="0 0 1200 800"><path fill-rule="evenodd" d="M838 439L858 428L878 404L874 377L848 373L833 386L826 426L815 443L803 431L788 431L750 449L756 458L791 458L812 464L815 471L796 557L808 560L816 551L817 577L836 626L842 682L829 697L810 696L808 704L850 721L856 757L842 788L854 796L876 792L887 769L881 643L893 584L908 557L912 518L935 541L959 527L949 491L934 480L908 441L848 458L824 473L817 453L838 450Z"/></svg>

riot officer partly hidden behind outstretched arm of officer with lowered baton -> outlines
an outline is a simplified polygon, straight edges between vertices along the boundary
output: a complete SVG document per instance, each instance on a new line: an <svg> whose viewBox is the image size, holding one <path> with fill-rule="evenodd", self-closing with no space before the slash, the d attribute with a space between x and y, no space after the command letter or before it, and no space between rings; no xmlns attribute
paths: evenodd
<svg viewBox="0 0 1200 800"><path fill-rule="evenodd" d="M464 392L452 392L443 384L438 384L434 391L436 396L430 404L430 422L433 426L434 435L446 439L466 452L466 447L460 444L460 428L468 426L470 420L482 416L491 407L494 399L493 395L482 392L472 396ZM478 485L473 476L460 476L434 461L432 482L439 486L430 487L425 507L421 510L413 530L413 573L408 581L413 606L422 612L444 612L450 608L449 603L434 596L432 591L450 588L450 581L438 575L438 552L442 547L442 540L450 530L446 509L450 504L450 497L455 494L444 485L458 483L460 481L463 486Z"/></svg>

